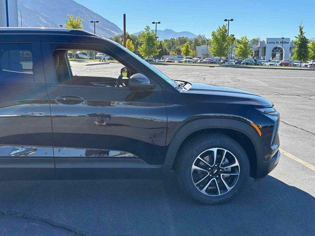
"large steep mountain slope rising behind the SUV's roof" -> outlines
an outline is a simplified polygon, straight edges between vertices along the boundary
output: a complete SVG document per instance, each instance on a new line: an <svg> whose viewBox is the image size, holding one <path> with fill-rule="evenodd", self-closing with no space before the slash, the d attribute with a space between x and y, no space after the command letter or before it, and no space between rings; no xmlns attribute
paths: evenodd
<svg viewBox="0 0 315 236"><path fill-rule="evenodd" d="M114 23L73 0L18 0L18 8L22 11L23 27L56 28L64 25L68 19L66 15L70 14L83 18L83 29L89 32L94 32L90 21L99 21L96 23L98 36L108 38L123 33Z"/></svg>

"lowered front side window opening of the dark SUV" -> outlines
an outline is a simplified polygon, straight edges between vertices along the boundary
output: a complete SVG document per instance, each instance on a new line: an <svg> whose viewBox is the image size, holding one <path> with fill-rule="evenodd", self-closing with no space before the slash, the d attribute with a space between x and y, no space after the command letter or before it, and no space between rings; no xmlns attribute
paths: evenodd
<svg viewBox="0 0 315 236"><path fill-rule="evenodd" d="M53 52L53 59L58 82L63 85L124 88L133 74L102 52L60 49Z"/></svg>

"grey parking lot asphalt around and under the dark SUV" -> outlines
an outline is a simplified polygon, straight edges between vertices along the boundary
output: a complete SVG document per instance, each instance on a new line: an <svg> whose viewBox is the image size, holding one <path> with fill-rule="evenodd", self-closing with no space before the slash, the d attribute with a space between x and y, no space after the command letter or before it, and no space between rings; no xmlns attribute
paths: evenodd
<svg viewBox="0 0 315 236"><path fill-rule="evenodd" d="M73 65L77 73L89 73ZM88 66L101 75L120 64ZM315 71L156 65L172 79L246 89L281 113L281 148L315 165ZM116 72L117 71L117 72ZM0 236L314 236L315 171L281 156L236 200L203 206L168 180L0 182ZM14 213L12 213L14 212Z"/></svg>

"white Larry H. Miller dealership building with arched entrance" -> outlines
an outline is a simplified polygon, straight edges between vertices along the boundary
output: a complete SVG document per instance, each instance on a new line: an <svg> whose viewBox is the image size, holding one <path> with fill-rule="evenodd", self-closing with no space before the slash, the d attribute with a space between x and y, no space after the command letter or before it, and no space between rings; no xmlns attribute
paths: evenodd
<svg viewBox="0 0 315 236"><path fill-rule="evenodd" d="M237 58L234 53L235 48L236 45L233 45L228 56L229 59ZM252 55L250 58L267 60L288 59L293 55L293 48L294 44L290 41L290 38L266 38L265 41L260 41L258 44L251 45ZM207 50L207 45L197 46L196 51L198 58L204 59L206 57L211 57L210 51Z"/></svg>

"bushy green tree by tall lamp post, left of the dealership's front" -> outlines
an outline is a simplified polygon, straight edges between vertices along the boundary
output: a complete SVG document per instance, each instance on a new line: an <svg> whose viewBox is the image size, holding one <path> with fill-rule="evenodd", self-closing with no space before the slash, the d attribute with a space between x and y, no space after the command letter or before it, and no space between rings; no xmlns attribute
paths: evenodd
<svg viewBox="0 0 315 236"><path fill-rule="evenodd" d="M226 25L219 26L216 31L212 31L210 39L210 52L213 56L226 58L233 43L233 36L227 35Z"/></svg>

